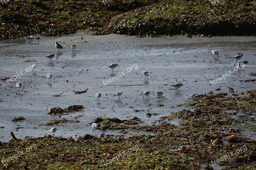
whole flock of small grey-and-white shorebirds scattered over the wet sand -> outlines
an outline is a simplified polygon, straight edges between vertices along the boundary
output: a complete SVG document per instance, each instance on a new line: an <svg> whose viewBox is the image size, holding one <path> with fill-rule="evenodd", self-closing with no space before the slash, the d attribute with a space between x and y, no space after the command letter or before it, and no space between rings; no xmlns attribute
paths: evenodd
<svg viewBox="0 0 256 170"><path fill-rule="evenodd" d="M33 39L34 39L34 36L25 37L25 39L26 39L26 41L28 41L29 44L30 44L30 42L33 41ZM75 52L76 44L72 43L70 47L72 48L72 52ZM62 47L57 41L55 41L55 48L57 49L57 51L60 51L60 49L63 49L63 47ZM217 50L212 50L212 54L213 54L214 57L215 57L215 56L219 57L219 52L218 52ZM236 60L236 67L237 67L237 68L238 68L238 67L240 68L240 63L238 62L238 60L240 60L240 59L242 58L242 56L243 56L242 53L238 53L238 54L234 57L234 59ZM47 55L47 56L45 56L45 57L48 58L50 61L52 61L51 59L53 59L53 58L55 57L55 54L50 54L50 55ZM36 65L35 65L35 64L33 64L31 67L32 67L33 70L36 70ZM110 64L110 65L108 66L108 68L110 68L110 69L112 70L112 73L114 72L114 69L115 69L116 67L119 67L118 64L116 64L116 63ZM32 70L32 71L33 71L33 70ZM146 77L147 77L147 79L148 79L149 72L146 71L146 70L144 70L144 71L142 71L141 75L145 76L145 80L146 80ZM51 79L51 82L52 82L52 74L48 73L48 74L46 75L46 78L48 78L48 82L49 82L49 79ZM171 85L171 86L172 86L175 90L179 91L179 88L182 87L183 84L182 84L182 83L177 83L177 84ZM19 88L21 87L21 83L20 83L20 82L16 83L16 87L19 89ZM184 87L184 86L183 86L183 87ZM228 87L228 93L229 93L229 92L230 92L232 95L234 95L234 93L235 93L234 89L231 88L231 87ZM118 97L118 99L119 99L122 94L123 94L123 91L117 91L117 92L115 92L115 93L113 94L113 98L116 96L116 97ZM148 99L149 94L150 94L149 91L145 91L145 92L143 93L143 95L144 95L143 98L146 96L146 98ZM156 92L156 98L162 98L163 94L164 94L163 92L157 91L157 92ZM96 100L97 100L97 101L100 100L100 97L101 97L100 92L97 92L95 96L96 96ZM194 96L192 96L192 97L193 97L194 99L196 99L196 100L199 100L199 99L203 98L204 95L203 95L203 94L196 94L196 95L194 95ZM157 117L157 119L158 119L159 122L160 122L160 121L163 121L163 122L164 122L164 120L167 119L167 117L168 117L168 116L166 116L166 115L161 115L161 116ZM92 123L92 130L93 130L93 131L96 130L96 129L98 129L98 128L99 128L99 125L98 125L97 123ZM52 132L52 135L53 135L53 136L54 136L54 134L55 134L56 131L57 131L57 128L55 128L55 127L51 128L51 132Z"/></svg>

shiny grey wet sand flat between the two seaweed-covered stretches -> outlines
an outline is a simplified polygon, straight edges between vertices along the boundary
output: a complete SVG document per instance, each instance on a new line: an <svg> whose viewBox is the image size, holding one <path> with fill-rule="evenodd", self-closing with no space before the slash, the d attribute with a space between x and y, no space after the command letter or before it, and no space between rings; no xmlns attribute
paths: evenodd
<svg viewBox="0 0 256 170"><path fill-rule="evenodd" d="M56 52L55 41L64 47L60 52ZM89 42L83 43L84 41ZM72 42L79 43L76 45L76 53L71 52ZM62 118L80 122L56 126L56 136L72 136L76 139L85 134L119 134L118 130L92 132L89 123L100 116L119 119L136 116L144 121L140 125L152 125L158 116L147 117L147 111L134 112L134 109L149 109L150 113L172 115L182 109L192 109L177 105L191 101L193 94L228 92L227 86L231 86L235 89L236 97L240 92L256 87L253 82L244 82L255 79L249 75L256 70L255 37L138 38L116 34L94 36L79 33L63 37L40 37L31 45L24 38L1 41L0 49L1 78L12 77L21 71L24 73L32 64L37 66L35 72L28 71L17 79L16 82L22 83L20 92L14 88L14 81L0 85L0 127L4 127L0 129L2 142L8 142L12 138L11 131L17 138L51 134L52 126L42 124ZM213 49L219 51L218 59L212 56ZM240 62L248 63L244 68L234 71L226 80L212 86L210 80L215 80L229 70L233 71L236 63L233 57L237 52L244 54ZM44 57L49 54L56 56L52 62ZM26 62L28 60L31 61ZM120 66L114 69L114 73L107 67L111 63ZM138 66L133 67L138 69L127 70L132 66ZM148 80L144 80L145 77L141 75L143 70L150 72ZM107 86L102 83L123 71L127 74L118 80ZM46 77L47 73L52 74L52 82L42 77ZM173 87L170 86L176 83L184 85L180 92L172 90ZM88 91L83 94L73 92L87 88ZM215 91L218 88L220 91ZM112 98L116 91L124 91L120 99ZM143 99L144 91L151 92L148 100ZM164 92L163 96L166 98L156 100L156 91ZM101 93L99 102L96 101L96 92ZM61 96L52 96L58 94ZM148 107L149 104L152 105ZM164 104L164 107L157 107L158 104ZM48 115L50 108L71 105L84 105L84 110L61 117ZM83 117L75 118L78 115ZM255 117L255 113L253 115ZM12 122L14 117L19 116L24 116L26 120ZM180 119L174 118L169 122L179 125ZM15 131L16 128L20 129ZM146 132L130 132L134 133ZM256 139L255 133L246 135Z"/></svg>

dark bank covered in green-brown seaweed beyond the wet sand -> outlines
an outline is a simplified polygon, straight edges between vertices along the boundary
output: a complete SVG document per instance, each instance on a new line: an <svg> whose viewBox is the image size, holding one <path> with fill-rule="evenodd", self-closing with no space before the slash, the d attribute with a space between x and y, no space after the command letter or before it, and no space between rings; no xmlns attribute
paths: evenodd
<svg viewBox="0 0 256 170"><path fill-rule="evenodd" d="M159 36L255 35L255 0L250 1L9 1L1 4L0 39L31 34Z"/></svg>

